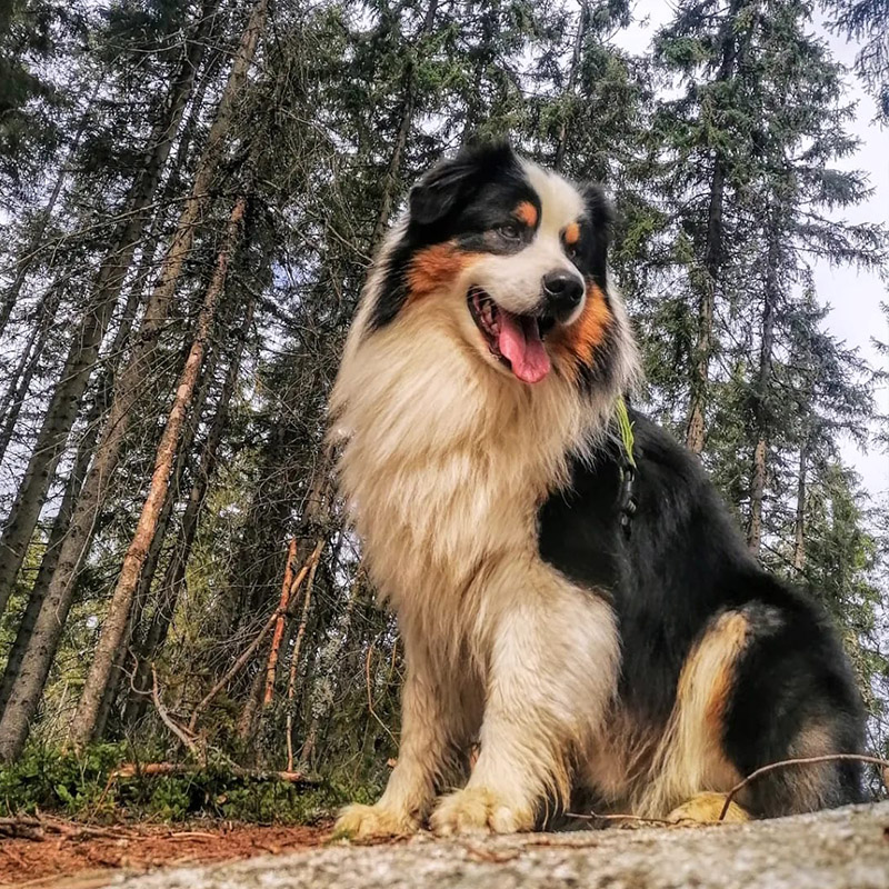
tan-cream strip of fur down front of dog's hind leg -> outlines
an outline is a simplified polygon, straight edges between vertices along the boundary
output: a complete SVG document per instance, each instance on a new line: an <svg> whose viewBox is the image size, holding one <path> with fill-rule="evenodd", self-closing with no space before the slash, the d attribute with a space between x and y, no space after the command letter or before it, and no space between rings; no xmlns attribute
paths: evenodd
<svg viewBox="0 0 889 889"><path fill-rule="evenodd" d="M742 776L722 750L725 708L749 623L740 611L720 615L692 649L679 677L651 781L635 793L633 811L663 817L700 791L731 789Z"/></svg>

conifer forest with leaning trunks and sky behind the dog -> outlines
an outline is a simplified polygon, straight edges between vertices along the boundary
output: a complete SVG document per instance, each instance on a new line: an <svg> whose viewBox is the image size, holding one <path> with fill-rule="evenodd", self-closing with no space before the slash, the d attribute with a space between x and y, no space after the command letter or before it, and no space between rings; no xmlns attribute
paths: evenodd
<svg viewBox="0 0 889 889"><path fill-rule="evenodd" d="M505 134L605 183L640 407L829 609L886 756L858 159L888 29L887 0L3 0L0 808L304 818L384 780L401 650L326 401L410 183Z"/></svg>

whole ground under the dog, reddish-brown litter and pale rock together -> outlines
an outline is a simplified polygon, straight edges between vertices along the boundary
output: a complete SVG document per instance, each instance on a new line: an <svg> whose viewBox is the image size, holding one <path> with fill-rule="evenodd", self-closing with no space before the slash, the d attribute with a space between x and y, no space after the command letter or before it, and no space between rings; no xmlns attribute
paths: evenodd
<svg viewBox="0 0 889 889"><path fill-rule="evenodd" d="M371 846L317 827L47 822L0 842L0 886L52 889L889 889L889 802L741 825Z"/></svg>

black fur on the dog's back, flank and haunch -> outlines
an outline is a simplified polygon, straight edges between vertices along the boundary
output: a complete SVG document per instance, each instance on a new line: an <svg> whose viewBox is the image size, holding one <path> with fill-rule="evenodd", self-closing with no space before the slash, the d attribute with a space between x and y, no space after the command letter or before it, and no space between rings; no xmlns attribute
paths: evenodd
<svg viewBox="0 0 889 889"><path fill-rule="evenodd" d="M665 726L695 642L715 616L737 609L752 637L737 665L723 726L723 749L738 772L793 756L800 732L813 727L828 733L835 752L860 750L860 696L821 609L750 557L697 460L640 414L631 419L638 508L629 536L619 521L617 443L590 465L576 460L570 485L539 513L542 557L612 598L623 706L640 723ZM815 800L800 795L802 778L790 770L759 779L745 803L772 816L860 798L858 763L817 768Z"/></svg>

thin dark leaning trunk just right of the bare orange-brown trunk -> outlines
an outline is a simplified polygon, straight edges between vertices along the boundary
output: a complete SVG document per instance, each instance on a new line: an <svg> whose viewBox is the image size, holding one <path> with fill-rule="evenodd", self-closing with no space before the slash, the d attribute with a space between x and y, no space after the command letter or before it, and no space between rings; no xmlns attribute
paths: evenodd
<svg viewBox="0 0 889 889"><path fill-rule="evenodd" d="M173 550L170 561L167 563L167 570L161 579L160 588L157 593L157 602L151 615L148 630L142 641L137 645L137 663L132 681L133 691L130 695L127 710L123 715L123 721L128 726L136 725L144 712L144 706L150 691L151 661L154 660L157 652L160 651L167 639L170 621L172 620L182 589L184 588L186 568L189 557L191 556L194 537L198 532L198 519L207 497L210 480L216 471L219 446L222 443L222 436L224 434L228 423L229 404L234 394L236 387L238 386L241 358L253 320L253 306L254 300L250 298L241 324L238 347L229 364L226 381L222 384L222 391L219 396L219 403L213 417L213 422L207 434L207 440L203 443L200 463L191 490L189 491L188 503L182 513L179 545Z"/></svg>

